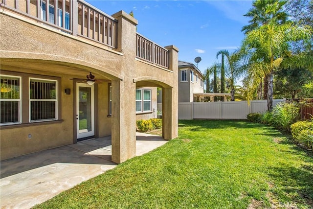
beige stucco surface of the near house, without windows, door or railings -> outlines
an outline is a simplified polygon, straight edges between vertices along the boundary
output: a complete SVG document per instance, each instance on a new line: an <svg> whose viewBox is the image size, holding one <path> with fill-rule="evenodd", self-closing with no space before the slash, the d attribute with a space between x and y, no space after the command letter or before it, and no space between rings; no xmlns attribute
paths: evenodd
<svg viewBox="0 0 313 209"><path fill-rule="evenodd" d="M112 160L123 162L135 154L135 92L141 87L162 87L169 112L166 138L178 135L178 50L171 52L170 69L135 59L137 21L119 12L118 48L110 49L82 37L72 36L8 10L0 14L1 70L61 77L62 121L30 126L1 127L1 160L75 142L75 85L71 78L86 78L92 72L106 80L96 87L97 137L112 134ZM133 38L131 38L133 37ZM172 50L172 49L171 49ZM109 83L112 84L112 117L109 113ZM64 93L70 88L71 94ZM170 90L170 91L169 91ZM156 100L156 93L153 93ZM154 108L154 107L153 107ZM156 103L155 103L156 108ZM139 116L138 116L139 117ZM174 127L172 127L174 126ZM31 139L26 139L32 134Z"/></svg>

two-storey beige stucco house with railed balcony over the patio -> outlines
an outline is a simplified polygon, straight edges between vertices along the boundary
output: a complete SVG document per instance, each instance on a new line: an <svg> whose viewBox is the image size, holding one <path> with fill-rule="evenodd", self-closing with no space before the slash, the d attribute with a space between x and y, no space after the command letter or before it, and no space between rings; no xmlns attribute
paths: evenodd
<svg viewBox="0 0 313 209"><path fill-rule="evenodd" d="M6 0L0 22L1 160L112 135L112 161L124 162L135 156L136 119L154 116L156 87L163 138L178 136L178 49L136 33L124 11Z"/></svg>

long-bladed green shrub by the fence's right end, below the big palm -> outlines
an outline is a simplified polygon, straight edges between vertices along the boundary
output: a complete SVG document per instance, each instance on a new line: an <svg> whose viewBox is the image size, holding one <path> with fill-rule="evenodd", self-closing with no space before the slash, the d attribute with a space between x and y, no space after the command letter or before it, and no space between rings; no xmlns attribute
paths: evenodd
<svg viewBox="0 0 313 209"><path fill-rule="evenodd" d="M300 117L300 106L295 103L279 103L272 111L272 123L275 127L284 131L290 131L292 123Z"/></svg>

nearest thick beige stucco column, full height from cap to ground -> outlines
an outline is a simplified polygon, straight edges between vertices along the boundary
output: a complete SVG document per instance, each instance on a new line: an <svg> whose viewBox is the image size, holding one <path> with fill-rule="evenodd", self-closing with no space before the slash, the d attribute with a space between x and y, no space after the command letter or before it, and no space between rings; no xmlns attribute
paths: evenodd
<svg viewBox="0 0 313 209"><path fill-rule="evenodd" d="M112 15L117 24L117 51L123 53L124 80L112 80L112 161L122 163L136 155L135 74L137 20L124 11Z"/></svg>

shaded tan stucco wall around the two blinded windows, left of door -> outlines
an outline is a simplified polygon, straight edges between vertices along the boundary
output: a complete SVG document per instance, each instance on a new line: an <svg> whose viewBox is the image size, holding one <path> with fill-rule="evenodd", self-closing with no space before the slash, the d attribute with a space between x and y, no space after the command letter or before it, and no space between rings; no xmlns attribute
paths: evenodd
<svg viewBox="0 0 313 209"><path fill-rule="evenodd" d="M1 68L1 73L10 74L5 73L3 70L29 73L31 77L40 75L56 76L55 73L20 70L14 67ZM58 110L61 111L59 121L30 123L26 126L1 126L1 160L73 143L73 91L71 89L70 95L64 93L64 89L72 86L72 81L65 74L58 74L58 76L61 77L61 96L59 98L62 107L61 110ZM28 138L29 134L31 134L31 138Z"/></svg>

